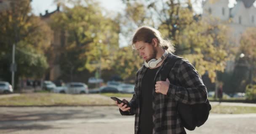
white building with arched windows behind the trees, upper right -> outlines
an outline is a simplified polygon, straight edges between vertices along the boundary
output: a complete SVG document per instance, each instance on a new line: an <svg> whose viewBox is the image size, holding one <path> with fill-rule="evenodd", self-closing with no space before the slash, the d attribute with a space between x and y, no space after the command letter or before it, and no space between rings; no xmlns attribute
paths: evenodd
<svg viewBox="0 0 256 134"><path fill-rule="evenodd" d="M235 46L239 46L241 34L250 27L256 27L256 7L253 3L256 0L236 0L237 4L229 8L229 0L205 0L203 1L202 17L213 16L219 18L219 23L229 26L230 37ZM229 61L226 71L234 70L234 62Z"/></svg>

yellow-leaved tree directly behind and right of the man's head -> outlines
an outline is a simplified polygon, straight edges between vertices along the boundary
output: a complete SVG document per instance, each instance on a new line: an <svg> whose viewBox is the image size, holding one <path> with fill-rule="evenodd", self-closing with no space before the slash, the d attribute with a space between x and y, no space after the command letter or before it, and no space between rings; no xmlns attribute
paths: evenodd
<svg viewBox="0 0 256 134"><path fill-rule="evenodd" d="M127 5L126 10L134 10L129 8L133 3L138 5L131 0L123 1ZM227 51L230 45L226 36L227 26L217 23L216 18L202 20L200 15L194 15L190 0L144 0L143 5L145 9L136 15L141 19L130 20L133 28L141 25L157 28L165 39L171 39L176 55L192 62L200 74L207 71L214 82L216 71L224 71L230 54ZM126 15L133 15L130 12Z"/></svg>

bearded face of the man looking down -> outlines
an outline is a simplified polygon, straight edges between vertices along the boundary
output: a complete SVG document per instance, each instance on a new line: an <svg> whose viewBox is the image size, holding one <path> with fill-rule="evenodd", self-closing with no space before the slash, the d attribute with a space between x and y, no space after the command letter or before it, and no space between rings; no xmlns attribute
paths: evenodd
<svg viewBox="0 0 256 134"><path fill-rule="evenodd" d="M151 59L155 59L157 56L156 48L152 44L145 43L144 41L137 41L134 46L139 52L139 55L146 62L149 62Z"/></svg>

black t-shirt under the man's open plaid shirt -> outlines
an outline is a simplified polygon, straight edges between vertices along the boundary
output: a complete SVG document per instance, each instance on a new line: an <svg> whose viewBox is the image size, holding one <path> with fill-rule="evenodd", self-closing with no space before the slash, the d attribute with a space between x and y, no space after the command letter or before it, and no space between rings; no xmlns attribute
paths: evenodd
<svg viewBox="0 0 256 134"><path fill-rule="evenodd" d="M139 118L139 134L152 134L152 99L155 91L154 78L159 67L148 69L141 81L141 102Z"/></svg>

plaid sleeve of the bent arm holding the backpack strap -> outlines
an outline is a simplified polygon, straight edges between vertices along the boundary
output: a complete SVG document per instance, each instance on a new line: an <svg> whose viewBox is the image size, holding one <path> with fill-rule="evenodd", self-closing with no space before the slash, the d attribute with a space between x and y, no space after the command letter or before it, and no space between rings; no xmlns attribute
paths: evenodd
<svg viewBox="0 0 256 134"><path fill-rule="evenodd" d="M176 78L179 80L181 86L169 85L167 95L170 98L174 98L176 101L186 104L206 102L207 89L200 75L191 63L182 60Z"/></svg>

